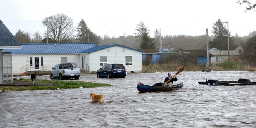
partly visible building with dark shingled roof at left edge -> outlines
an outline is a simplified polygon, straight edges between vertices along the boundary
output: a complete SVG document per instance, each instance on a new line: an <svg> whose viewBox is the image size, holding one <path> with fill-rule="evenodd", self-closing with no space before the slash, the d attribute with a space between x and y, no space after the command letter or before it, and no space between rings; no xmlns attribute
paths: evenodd
<svg viewBox="0 0 256 128"><path fill-rule="evenodd" d="M0 20L0 83L12 83L12 50L19 49L21 45L10 33L9 29Z"/></svg>

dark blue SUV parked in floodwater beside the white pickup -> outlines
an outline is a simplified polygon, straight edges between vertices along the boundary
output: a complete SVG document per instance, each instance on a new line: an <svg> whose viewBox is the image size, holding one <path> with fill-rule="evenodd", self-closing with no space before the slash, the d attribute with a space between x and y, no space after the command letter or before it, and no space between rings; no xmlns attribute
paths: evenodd
<svg viewBox="0 0 256 128"><path fill-rule="evenodd" d="M111 78L114 76L119 76L125 78L127 71L123 64L106 64L97 71L97 77L107 77Z"/></svg>

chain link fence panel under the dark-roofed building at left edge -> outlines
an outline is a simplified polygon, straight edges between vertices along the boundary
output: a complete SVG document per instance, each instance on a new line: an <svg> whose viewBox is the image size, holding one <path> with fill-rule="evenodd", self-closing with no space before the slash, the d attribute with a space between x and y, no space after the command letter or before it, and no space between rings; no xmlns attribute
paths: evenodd
<svg viewBox="0 0 256 128"><path fill-rule="evenodd" d="M12 52L2 54L3 83L13 83L12 79Z"/></svg>

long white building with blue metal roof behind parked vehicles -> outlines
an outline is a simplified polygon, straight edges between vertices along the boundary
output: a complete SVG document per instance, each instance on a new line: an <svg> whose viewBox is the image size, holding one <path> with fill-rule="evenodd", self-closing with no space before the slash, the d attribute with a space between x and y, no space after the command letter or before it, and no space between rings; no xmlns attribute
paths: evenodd
<svg viewBox="0 0 256 128"><path fill-rule="evenodd" d="M21 44L13 51L13 71L20 75L27 71L50 71L55 64L71 62L88 72L105 64L123 64L128 72L142 72L142 52L121 45L95 46L93 43Z"/></svg>

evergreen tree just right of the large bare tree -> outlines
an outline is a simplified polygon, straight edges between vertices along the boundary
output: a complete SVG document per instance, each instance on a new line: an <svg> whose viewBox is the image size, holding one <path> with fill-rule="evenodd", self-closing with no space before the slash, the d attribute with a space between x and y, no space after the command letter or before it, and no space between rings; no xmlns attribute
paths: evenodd
<svg viewBox="0 0 256 128"><path fill-rule="evenodd" d="M94 43L95 45L98 45L100 40L98 39L98 36L93 33L88 27L85 21L82 19L78 23L78 27L76 27L78 34L76 34L76 39L78 42L81 43Z"/></svg>

